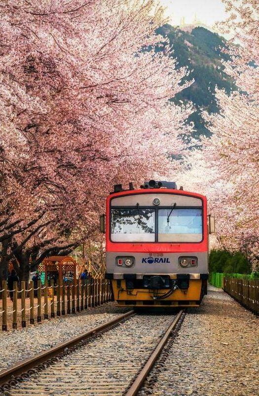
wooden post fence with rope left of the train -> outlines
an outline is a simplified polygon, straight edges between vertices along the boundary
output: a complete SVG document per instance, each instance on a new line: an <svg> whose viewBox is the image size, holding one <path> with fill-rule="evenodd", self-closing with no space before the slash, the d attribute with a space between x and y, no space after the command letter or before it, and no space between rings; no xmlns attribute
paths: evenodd
<svg viewBox="0 0 259 396"><path fill-rule="evenodd" d="M21 290L18 290L17 282L14 282L13 290L7 289L7 282L2 282L2 330L7 330L7 320L12 315L12 328L17 329L17 314L21 317L21 326L26 327L26 319L30 324L41 322L44 319L55 318L65 314L76 313L89 307L94 307L112 300L110 281L105 279L93 279L89 281L77 280L73 284L59 284L54 286L51 281L50 286L45 282L44 286L38 281L37 288L31 281L26 289L25 282L21 282ZM8 305L7 298L12 298L12 306ZM43 297L43 303L42 303ZM37 303L35 304L35 298ZM20 309L18 309L18 299ZM27 306L29 304L29 306ZM9 310L8 310L8 307ZM29 317L28 317L29 314Z"/></svg>

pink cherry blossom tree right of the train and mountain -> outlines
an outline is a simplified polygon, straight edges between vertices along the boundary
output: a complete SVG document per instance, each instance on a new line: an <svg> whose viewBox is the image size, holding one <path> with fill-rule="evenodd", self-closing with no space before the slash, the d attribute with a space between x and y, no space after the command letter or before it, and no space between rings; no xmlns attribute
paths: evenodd
<svg viewBox="0 0 259 396"><path fill-rule="evenodd" d="M202 139L202 151L191 152L185 178L208 196L220 245L243 251L258 269L259 6L254 0L223 2L230 16L220 27L233 36L232 58L224 66L240 89L216 92L221 113L204 113L213 135Z"/></svg>

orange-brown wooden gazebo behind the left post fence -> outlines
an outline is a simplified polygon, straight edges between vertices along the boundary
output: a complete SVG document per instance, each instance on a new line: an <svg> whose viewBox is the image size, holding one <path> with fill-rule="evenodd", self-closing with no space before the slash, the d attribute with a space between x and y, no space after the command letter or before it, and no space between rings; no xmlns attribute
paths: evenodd
<svg viewBox="0 0 259 396"><path fill-rule="evenodd" d="M51 256L46 257L38 266L38 272L44 273L44 278L54 280L54 284L64 281L74 282L79 272L79 265L71 256Z"/></svg>

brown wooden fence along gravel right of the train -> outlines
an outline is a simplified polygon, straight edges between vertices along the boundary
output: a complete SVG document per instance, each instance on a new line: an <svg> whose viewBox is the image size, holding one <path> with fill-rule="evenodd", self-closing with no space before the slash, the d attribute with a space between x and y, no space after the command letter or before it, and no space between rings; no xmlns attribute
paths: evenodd
<svg viewBox="0 0 259 396"><path fill-rule="evenodd" d="M224 291L259 315L259 280L224 278Z"/></svg>

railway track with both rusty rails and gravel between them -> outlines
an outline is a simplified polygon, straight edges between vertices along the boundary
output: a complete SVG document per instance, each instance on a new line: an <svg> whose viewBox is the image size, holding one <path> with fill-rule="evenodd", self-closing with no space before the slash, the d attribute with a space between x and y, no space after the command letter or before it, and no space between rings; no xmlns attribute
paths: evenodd
<svg viewBox="0 0 259 396"><path fill-rule="evenodd" d="M0 373L15 396L135 396L183 318L129 311ZM173 319L173 320L172 320Z"/></svg>

